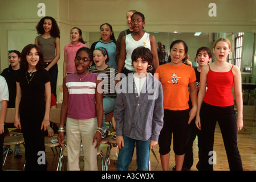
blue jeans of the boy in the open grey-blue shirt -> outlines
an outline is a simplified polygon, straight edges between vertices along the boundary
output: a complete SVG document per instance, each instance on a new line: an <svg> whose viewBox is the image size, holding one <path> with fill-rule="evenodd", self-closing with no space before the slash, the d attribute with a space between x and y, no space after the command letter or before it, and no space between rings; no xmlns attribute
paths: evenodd
<svg viewBox="0 0 256 182"><path fill-rule="evenodd" d="M135 140L126 137L124 138L124 147L121 147L119 151L116 168L118 171L128 171L128 167L132 162L133 151L136 142L136 150L137 150L137 171L148 171L149 166L149 144L151 138L146 141Z"/></svg>

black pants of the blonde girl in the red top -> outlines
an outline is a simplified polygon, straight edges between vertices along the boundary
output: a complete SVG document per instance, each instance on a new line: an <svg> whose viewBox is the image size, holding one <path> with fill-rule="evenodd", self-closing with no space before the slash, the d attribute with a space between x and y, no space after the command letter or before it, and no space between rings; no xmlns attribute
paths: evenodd
<svg viewBox="0 0 256 182"><path fill-rule="evenodd" d="M202 128L202 169L213 170L213 164L209 162L210 151L213 151L214 132L216 122L221 129L222 138L231 171L241 171L242 160L237 147L237 119L235 118L234 106L218 107L202 103L200 110ZM218 158L218 152L216 152Z"/></svg>

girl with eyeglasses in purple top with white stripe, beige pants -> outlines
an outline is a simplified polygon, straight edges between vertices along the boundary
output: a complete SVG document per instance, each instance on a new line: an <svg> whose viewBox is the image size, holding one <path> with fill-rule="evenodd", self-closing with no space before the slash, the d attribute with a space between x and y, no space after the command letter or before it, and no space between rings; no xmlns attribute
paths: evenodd
<svg viewBox="0 0 256 182"><path fill-rule="evenodd" d="M63 78L63 103L60 114L58 140L64 146L66 122L68 170L79 171L80 143L84 152L84 170L97 171L97 147L102 133L102 89L98 75L88 71L92 65L92 51L83 47L75 56L76 73ZM99 86L98 86L99 85Z"/></svg>

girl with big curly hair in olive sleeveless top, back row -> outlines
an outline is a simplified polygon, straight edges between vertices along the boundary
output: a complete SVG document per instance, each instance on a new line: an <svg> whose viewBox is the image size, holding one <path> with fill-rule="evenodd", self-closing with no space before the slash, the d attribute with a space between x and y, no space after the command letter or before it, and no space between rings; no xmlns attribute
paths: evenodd
<svg viewBox="0 0 256 182"><path fill-rule="evenodd" d="M39 36L35 38L35 44L43 53L44 69L51 75L51 93L56 96L58 77L57 62L60 58L60 31L56 20L51 16L44 16L38 22L36 30Z"/></svg>

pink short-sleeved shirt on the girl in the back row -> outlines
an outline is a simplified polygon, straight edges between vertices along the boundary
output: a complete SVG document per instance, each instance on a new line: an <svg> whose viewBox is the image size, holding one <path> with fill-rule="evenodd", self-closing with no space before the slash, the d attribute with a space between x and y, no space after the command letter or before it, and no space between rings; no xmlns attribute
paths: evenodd
<svg viewBox="0 0 256 182"><path fill-rule="evenodd" d="M75 68L75 56L76 56L76 51L82 47L87 47L86 44L83 44L79 42L75 46L72 46L72 43L67 44L64 47L64 51L67 52L67 70L66 73L75 73L76 68Z"/></svg>

